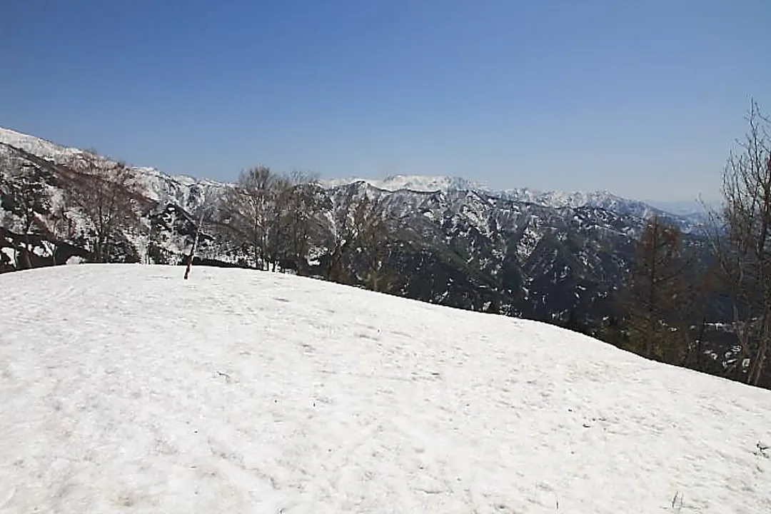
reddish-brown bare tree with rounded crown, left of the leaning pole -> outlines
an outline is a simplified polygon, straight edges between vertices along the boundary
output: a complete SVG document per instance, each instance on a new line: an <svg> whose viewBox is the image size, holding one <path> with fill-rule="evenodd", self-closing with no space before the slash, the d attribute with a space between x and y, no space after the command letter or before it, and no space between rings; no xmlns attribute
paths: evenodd
<svg viewBox="0 0 771 514"><path fill-rule="evenodd" d="M69 163L67 203L79 209L93 226L94 258L109 262L120 230L136 225L139 199L134 173L126 164L94 153L79 153Z"/></svg>

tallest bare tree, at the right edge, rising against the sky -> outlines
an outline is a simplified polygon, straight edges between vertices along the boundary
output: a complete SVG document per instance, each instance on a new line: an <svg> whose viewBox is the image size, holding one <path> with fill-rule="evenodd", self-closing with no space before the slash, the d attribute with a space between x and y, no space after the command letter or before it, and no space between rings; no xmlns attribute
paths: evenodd
<svg viewBox="0 0 771 514"><path fill-rule="evenodd" d="M733 301L738 363L747 383L758 385L771 357L771 120L754 100L746 119L746 136L723 170L726 237L714 239Z"/></svg>

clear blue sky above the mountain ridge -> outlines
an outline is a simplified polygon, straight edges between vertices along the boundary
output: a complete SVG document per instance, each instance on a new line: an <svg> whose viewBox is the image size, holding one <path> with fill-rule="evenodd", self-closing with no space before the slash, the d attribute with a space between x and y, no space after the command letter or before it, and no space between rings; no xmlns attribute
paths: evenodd
<svg viewBox="0 0 771 514"><path fill-rule="evenodd" d="M769 0L4 0L0 126L168 173L718 196Z"/></svg>

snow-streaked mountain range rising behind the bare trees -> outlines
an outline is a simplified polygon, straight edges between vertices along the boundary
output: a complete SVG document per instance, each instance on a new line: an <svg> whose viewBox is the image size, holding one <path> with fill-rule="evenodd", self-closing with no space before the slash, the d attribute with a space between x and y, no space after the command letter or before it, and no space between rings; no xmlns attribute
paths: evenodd
<svg viewBox="0 0 771 514"><path fill-rule="evenodd" d="M67 237L55 236L56 214L69 209L60 201L62 163L81 150L0 129L0 156L13 156L18 166L45 168L52 174L49 212L35 221L40 260L56 262L70 255L88 259L93 227L68 211ZM0 169L2 183L19 173ZM18 171L18 170L17 170ZM8 173L6 173L8 172ZM151 167L134 167L143 197L138 227L122 233L120 255L126 262L178 263L192 244L193 214L207 203L222 207L231 184L190 176L170 176ZM15 179L14 177L17 177ZM10 181L10 182L9 182ZM628 268L635 237L645 217L657 213L688 233L697 226L689 217L665 213L647 203L607 192L539 193L518 189L494 191L480 183L452 176L390 176L384 180L326 180L318 188L325 205L308 254L318 274L329 266L331 250L325 230L334 232L335 213L345 197L376 198L385 214L399 221L390 234L392 246L385 266L399 277L392 291L423 301L475 311L494 308L536 319L564 319L576 313L597 319L608 313L610 295ZM5 203L0 209L0 258L13 268L24 244L21 220ZM138 207L139 208L139 207ZM56 214L56 215L55 215ZM220 227L207 229L200 255L217 265L250 265L243 241L234 241ZM154 238L150 241L150 236ZM48 245L62 254L44 257ZM150 251L152 250L152 251ZM116 250L117 251L117 250ZM312 254L312 255L311 255ZM254 264L254 263L252 263ZM0 267L2 267L0 266Z"/></svg>

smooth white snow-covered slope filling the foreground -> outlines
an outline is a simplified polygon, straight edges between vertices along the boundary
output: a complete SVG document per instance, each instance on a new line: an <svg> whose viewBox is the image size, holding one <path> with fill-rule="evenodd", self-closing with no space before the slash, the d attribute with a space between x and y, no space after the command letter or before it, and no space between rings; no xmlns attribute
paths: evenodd
<svg viewBox="0 0 771 514"><path fill-rule="evenodd" d="M771 512L769 391L530 321L182 274L0 276L0 512Z"/></svg>

